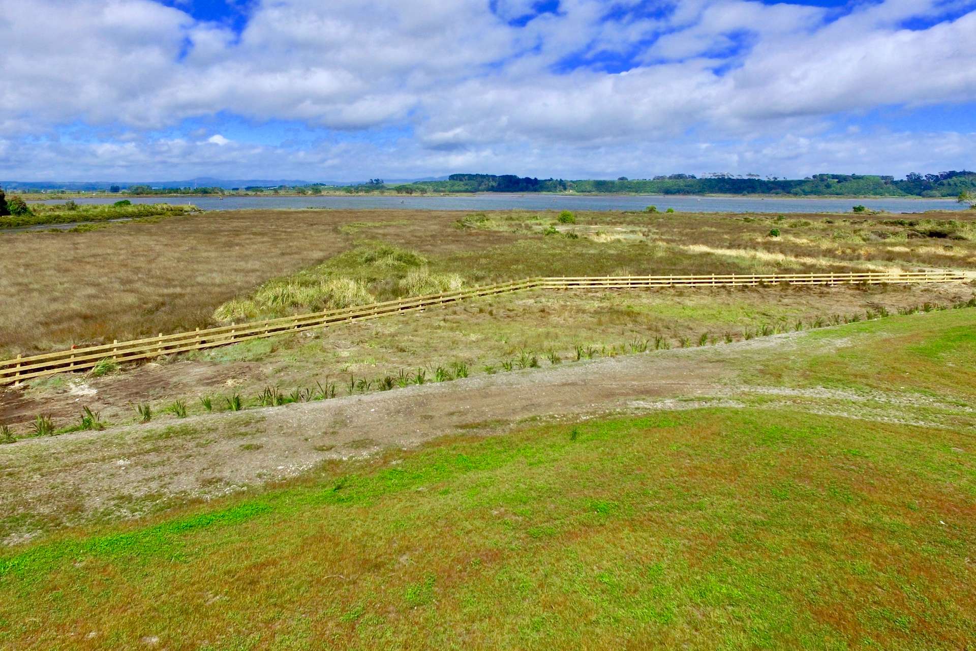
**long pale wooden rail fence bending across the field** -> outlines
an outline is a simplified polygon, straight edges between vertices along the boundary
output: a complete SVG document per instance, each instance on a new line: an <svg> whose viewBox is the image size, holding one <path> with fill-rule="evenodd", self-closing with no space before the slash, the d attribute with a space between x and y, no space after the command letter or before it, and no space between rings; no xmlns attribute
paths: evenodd
<svg viewBox="0 0 976 651"><path fill-rule="evenodd" d="M101 346L85 346L58 352L0 361L0 385L20 384L25 380L64 372L87 371L102 359L112 358L119 363L152 359L190 350L228 346L252 339L262 339L314 328L327 328L339 323L351 323L423 310L436 305L448 305L485 296L519 292L527 289L627 289L640 287L743 287L757 285L839 285L839 284L895 284L944 283L969 280L964 273L952 271L861 273L787 273L755 275L658 275L658 276L564 276L526 278L508 283L485 285L456 292L431 294L410 299L386 301L371 305L357 305L345 309L330 309L297 316L285 316L263 321L231 324L217 328L194 330L173 335L113 342Z"/></svg>

